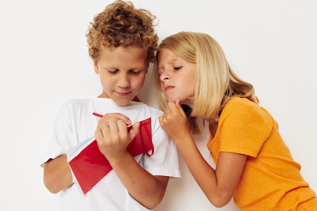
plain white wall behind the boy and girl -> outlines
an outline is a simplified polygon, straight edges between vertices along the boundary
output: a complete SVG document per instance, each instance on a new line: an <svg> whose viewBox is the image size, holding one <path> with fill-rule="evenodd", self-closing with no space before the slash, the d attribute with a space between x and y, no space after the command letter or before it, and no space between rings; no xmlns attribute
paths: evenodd
<svg viewBox="0 0 317 211"><path fill-rule="evenodd" d="M43 185L40 159L59 107L70 98L101 93L85 33L112 1L16 0L0 3L0 210L58 210L59 194ZM159 18L161 39L183 30L218 40L232 69L251 82L302 176L317 191L317 3L313 0L148 1L136 7ZM140 93L157 107L150 73ZM209 158L208 132L197 145ZM213 207L181 160L183 178L171 181L155 210L239 210L232 201Z"/></svg>

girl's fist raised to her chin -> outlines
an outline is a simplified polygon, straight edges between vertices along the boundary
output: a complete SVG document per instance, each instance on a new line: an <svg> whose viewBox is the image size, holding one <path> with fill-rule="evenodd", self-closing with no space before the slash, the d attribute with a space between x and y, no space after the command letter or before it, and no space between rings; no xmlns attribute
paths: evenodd
<svg viewBox="0 0 317 211"><path fill-rule="evenodd" d="M159 117L163 130L177 143L184 136L191 136L187 116L180 105L180 100L169 102L163 116Z"/></svg>

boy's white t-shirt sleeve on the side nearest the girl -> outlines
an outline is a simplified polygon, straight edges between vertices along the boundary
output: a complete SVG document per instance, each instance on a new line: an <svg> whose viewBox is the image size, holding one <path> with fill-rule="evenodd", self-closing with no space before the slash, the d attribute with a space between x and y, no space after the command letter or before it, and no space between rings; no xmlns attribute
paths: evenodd
<svg viewBox="0 0 317 211"><path fill-rule="evenodd" d="M159 118L153 120L152 142L154 154L150 157L144 155L143 167L155 176L167 176L170 179L180 178L176 145L161 128Z"/></svg>

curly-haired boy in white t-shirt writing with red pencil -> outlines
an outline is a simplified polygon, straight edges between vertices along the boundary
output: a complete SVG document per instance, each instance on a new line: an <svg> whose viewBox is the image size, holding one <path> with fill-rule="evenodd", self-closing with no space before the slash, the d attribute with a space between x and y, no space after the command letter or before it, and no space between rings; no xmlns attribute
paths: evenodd
<svg viewBox="0 0 317 211"><path fill-rule="evenodd" d="M151 210L163 199L169 177L180 177L176 147L158 120L162 112L136 96L154 61L154 19L130 2L115 1L90 24L89 55L103 91L97 98L73 99L61 107L42 164L47 189L61 191L61 210ZM139 132L138 121L148 117L154 154L132 157L126 148ZM127 124L133 122L128 132ZM83 194L66 154L92 136L113 170Z"/></svg>

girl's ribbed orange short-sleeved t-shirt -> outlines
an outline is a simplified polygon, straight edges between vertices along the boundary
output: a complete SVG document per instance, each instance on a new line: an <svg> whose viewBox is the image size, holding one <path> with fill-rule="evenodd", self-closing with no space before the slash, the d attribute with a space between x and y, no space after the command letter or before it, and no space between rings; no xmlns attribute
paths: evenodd
<svg viewBox="0 0 317 211"><path fill-rule="evenodd" d="M296 210L299 203L316 195L303 180L301 166L293 160L278 123L246 98L234 97L228 102L207 147L216 164L219 152L248 155L233 195L242 210ZM311 210L317 210L315 205Z"/></svg>

